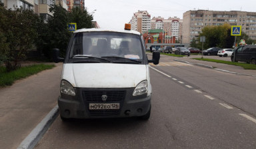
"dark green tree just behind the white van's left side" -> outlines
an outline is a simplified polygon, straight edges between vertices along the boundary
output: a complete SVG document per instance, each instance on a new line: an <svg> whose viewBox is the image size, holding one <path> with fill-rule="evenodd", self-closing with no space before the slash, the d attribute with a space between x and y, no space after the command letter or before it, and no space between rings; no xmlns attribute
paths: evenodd
<svg viewBox="0 0 256 149"><path fill-rule="evenodd" d="M93 16L87 10L74 7L69 13L61 5L52 5L50 8L53 17L42 24L39 31L41 40L37 43L42 48L45 57L51 58L52 49L60 49L61 56L65 57L66 49L72 33L67 29L67 23L77 23L77 29L91 28Z"/></svg>

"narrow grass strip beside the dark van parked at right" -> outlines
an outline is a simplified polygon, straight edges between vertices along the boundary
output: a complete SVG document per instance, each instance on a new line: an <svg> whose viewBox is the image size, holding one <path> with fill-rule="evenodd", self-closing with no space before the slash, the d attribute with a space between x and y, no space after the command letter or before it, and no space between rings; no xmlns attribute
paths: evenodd
<svg viewBox="0 0 256 149"><path fill-rule="evenodd" d="M209 61L209 62L215 62L215 63L223 63L228 65L235 65L239 67L243 67L244 69L253 69L256 70L256 65L254 64L247 64L247 63L237 63L237 62L231 62L231 61L222 61L217 59L201 59L201 58L193 58L199 61Z"/></svg>

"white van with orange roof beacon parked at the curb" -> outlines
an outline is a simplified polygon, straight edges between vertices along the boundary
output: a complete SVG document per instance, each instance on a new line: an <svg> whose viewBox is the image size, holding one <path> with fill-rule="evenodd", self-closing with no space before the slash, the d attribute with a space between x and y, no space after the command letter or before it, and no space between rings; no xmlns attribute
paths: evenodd
<svg viewBox="0 0 256 149"><path fill-rule="evenodd" d="M129 30L129 25L121 31L75 31L65 58L53 49L53 61L63 62L58 98L61 119L149 119L149 63L157 65L159 59L159 52L147 59L143 37Z"/></svg>

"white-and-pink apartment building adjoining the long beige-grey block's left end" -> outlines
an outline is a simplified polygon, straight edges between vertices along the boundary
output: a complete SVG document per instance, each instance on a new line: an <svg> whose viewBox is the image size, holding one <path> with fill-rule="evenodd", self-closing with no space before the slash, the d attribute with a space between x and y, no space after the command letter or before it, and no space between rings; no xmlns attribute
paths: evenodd
<svg viewBox="0 0 256 149"><path fill-rule="evenodd" d="M164 19L163 17L153 17L151 19L151 29L163 29L169 37L175 37L179 40L182 33L183 20L178 17L169 17Z"/></svg>

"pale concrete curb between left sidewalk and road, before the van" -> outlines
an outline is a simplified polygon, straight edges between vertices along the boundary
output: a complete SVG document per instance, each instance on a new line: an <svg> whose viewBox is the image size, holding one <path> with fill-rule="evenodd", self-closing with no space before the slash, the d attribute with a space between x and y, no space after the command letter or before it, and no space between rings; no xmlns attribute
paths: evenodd
<svg viewBox="0 0 256 149"><path fill-rule="evenodd" d="M43 120L30 132L30 134L21 142L17 149L32 149L48 130L53 121L57 118L59 106L55 106Z"/></svg>

